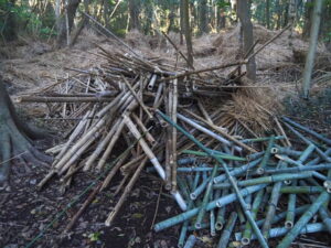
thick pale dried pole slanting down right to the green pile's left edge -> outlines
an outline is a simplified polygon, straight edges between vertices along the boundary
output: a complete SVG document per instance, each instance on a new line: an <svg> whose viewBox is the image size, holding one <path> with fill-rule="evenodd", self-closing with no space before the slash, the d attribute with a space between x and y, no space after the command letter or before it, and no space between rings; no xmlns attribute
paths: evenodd
<svg viewBox="0 0 331 248"><path fill-rule="evenodd" d="M149 145L147 144L145 139L140 138L141 134L139 133L139 131L138 131L137 127L135 126L135 123L132 122L132 120L127 115L124 114L124 121L125 121L126 126L128 127L128 129L131 131L131 133L136 137L136 139L139 139L139 144L141 145L143 152L147 154L150 162L156 168L156 170L157 170L158 174L160 175L160 177L164 181L166 180L166 172L164 172L163 168L161 166L160 162L158 161L157 157L154 155L152 150L149 148ZM185 211L186 209L186 203L184 202L181 194L178 191L175 191L175 192L171 192L171 195L174 197L174 200L179 204L180 208Z"/></svg>

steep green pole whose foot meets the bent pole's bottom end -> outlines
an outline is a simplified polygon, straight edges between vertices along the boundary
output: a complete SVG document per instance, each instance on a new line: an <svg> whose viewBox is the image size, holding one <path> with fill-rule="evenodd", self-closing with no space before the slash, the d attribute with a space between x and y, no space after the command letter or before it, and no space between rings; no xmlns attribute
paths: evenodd
<svg viewBox="0 0 331 248"><path fill-rule="evenodd" d="M279 168L286 168L287 164L282 161L279 161ZM266 220L263 225L261 231L266 240L269 238L269 230L271 228L271 220L275 217L276 214L276 207L278 205L278 200L280 197L280 188L281 188L282 182L275 183L271 195L270 195L270 202L267 209Z"/></svg>

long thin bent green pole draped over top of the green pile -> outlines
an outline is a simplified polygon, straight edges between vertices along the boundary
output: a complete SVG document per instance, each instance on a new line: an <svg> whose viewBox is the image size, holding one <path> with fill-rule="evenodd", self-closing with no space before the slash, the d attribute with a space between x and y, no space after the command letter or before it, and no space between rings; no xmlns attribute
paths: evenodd
<svg viewBox="0 0 331 248"><path fill-rule="evenodd" d="M247 208L246 203L243 198L243 195L236 184L236 180L231 175L226 163L215 157L214 154L212 154L207 148L205 148L199 140L196 140L191 133L186 132L183 128L181 128L180 126L178 126L177 123L174 123L168 116L166 116L163 112L161 112L160 110L157 110L157 114L160 115L167 122L169 122L171 126L175 127L180 132L182 132L184 136L186 136L190 140L192 140L201 150L203 150L204 152L206 152L211 158L213 158L214 160L217 161L218 164L221 164L224 168L224 171L227 175L228 181L231 182L231 184L233 185L233 190L235 191L237 197L238 197L238 202L241 203L243 211L248 219L248 222L250 223L254 233L256 234L256 236L258 237L258 241L261 245L261 247L266 248L268 247L268 244L266 242L265 238L263 237L259 228L257 227L255 220L252 217L252 213ZM263 184L261 184L263 185Z"/></svg>

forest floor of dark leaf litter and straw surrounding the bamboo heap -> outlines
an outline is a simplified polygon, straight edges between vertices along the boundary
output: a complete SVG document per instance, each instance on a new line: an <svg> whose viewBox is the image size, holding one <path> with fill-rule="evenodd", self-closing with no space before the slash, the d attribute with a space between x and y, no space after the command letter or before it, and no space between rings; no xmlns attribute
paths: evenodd
<svg viewBox="0 0 331 248"><path fill-rule="evenodd" d="M238 56L237 47L234 42L231 42L235 32L229 31L223 37L222 35L205 35L195 40L196 67L213 66L225 60L235 60ZM265 36L263 33L259 35ZM94 43L108 50L116 46L107 39L93 33L87 32L84 37L84 41L79 41L73 48L61 51L53 51L46 43L26 40L21 40L15 46L2 47L0 72L9 86L10 94L18 96L40 91L74 74L75 72L71 68L87 69L103 63L103 60L95 56L98 50ZM172 39L179 43L178 36L172 36ZM132 33L126 41L130 46L149 56L174 61L175 51L169 44L164 44L163 40L148 40L141 34ZM301 46L307 46L299 39L296 41ZM295 54L288 55L288 51L284 51L285 47L281 45L285 42L285 40L276 42L266 53L258 55L257 85L269 86L266 90L281 98L279 101L285 106L282 111L292 116L293 119L330 136L331 79L329 77L329 79L319 80L312 90L310 101L300 99L297 94L297 84L301 75L302 61L300 57L293 58ZM231 47L226 48L225 44L231 44ZM17 108L21 116L28 115L29 121L36 126L47 127L58 132L61 130L62 133L67 126L63 120L45 120L49 111L46 105L21 104L17 105ZM49 143L47 147L52 147L54 142ZM11 191L0 192L0 247L25 247L54 219L56 214L95 180L93 175L81 173L77 176L79 180L74 180L64 194L60 183L54 181L39 192L36 184L47 171L47 168L24 168L19 161L13 164ZM63 229L82 204L65 212L33 247L177 247L179 227L157 234L151 229L153 222L173 216L180 213L180 209L172 201L169 201L169 195L162 192L161 181L150 174L140 176L115 224L111 227L104 226L105 218L119 197L114 196L115 185L118 183L119 180L115 179L108 191L97 195L71 233L63 234ZM201 237L199 246L212 246L213 240L207 236ZM308 237L313 238L313 236ZM322 245L330 246L331 244L323 239ZM258 245L250 247L258 247Z"/></svg>

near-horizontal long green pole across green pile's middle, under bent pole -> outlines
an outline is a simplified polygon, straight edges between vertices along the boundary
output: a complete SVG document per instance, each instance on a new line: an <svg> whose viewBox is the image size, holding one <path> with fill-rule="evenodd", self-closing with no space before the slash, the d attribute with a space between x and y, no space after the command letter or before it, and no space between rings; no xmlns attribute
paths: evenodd
<svg viewBox="0 0 331 248"><path fill-rule="evenodd" d="M299 179L308 179L312 176L312 172L302 172L298 174L276 174L276 175L269 175L269 176L261 176L257 179L250 179L250 180L245 180L245 181L238 181L237 185L238 186L252 186L256 184L263 184L263 183L277 183L277 182L282 182L287 180L299 180ZM229 188L231 184L229 183L218 183L214 184L214 190L224 190L224 188Z"/></svg>

